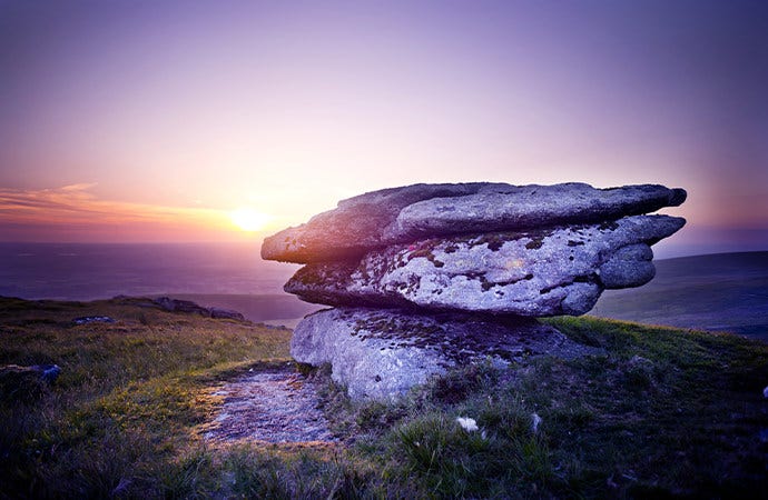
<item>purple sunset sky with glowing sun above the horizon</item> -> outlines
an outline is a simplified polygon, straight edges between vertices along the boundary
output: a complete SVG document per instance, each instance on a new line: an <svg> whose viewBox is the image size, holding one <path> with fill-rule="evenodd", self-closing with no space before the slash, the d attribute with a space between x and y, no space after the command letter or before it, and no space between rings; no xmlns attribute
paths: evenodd
<svg viewBox="0 0 768 500"><path fill-rule="evenodd" d="M0 0L0 241L582 181L687 189L664 256L768 250L766 89L762 1Z"/></svg>

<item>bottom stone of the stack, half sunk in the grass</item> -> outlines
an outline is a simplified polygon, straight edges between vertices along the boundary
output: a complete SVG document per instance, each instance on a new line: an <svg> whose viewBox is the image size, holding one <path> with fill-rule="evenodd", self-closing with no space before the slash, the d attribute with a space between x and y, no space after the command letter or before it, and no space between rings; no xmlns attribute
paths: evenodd
<svg viewBox="0 0 768 500"><path fill-rule="evenodd" d="M568 359L593 352L531 319L397 309L318 311L298 323L291 340L296 361L331 363L333 379L346 386L351 398L378 400L472 362L508 366L545 354Z"/></svg>

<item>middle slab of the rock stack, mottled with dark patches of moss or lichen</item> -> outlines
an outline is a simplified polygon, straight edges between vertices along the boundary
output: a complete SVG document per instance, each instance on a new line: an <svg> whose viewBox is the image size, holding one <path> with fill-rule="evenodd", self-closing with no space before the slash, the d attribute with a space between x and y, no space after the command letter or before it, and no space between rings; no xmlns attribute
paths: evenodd
<svg viewBox="0 0 768 500"><path fill-rule="evenodd" d="M683 224L681 218L632 216L600 224L420 240L357 261L305 266L285 290L332 306L583 314L604 288L650 280L648 247Z"/></svg>

